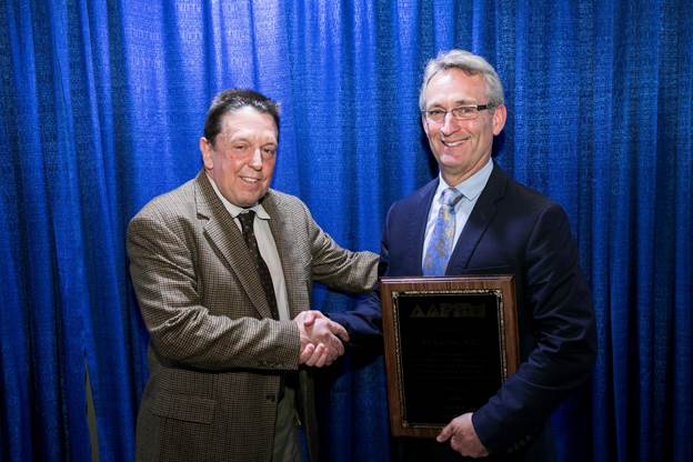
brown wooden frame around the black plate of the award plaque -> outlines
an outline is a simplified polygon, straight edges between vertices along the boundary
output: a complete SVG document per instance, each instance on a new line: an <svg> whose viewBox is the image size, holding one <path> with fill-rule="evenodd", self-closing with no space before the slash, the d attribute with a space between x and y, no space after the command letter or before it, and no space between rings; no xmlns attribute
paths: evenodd
<svg viewBox="0 0 693 462"><path fill-rule="evenodd" d="M518 345L518 317L515 309L515 284L513 275L464 275L464 277L436 277L436 278L382 278L380 281L382 320L383 320L383 338L384 338L384 359L385 372L388 379L388 402L390 405L390 428L394 436L411 438L435 438L440 431L449 423L444 421L423 421L414 422L409 419L406 408L406 396L411 396L411 391L405 390L403 364L405 363L402 351L402 332L400 302L406 300L406 304L411 300L425 300L430 303L431 299L452 301L446 302L446 307L454 307L459 303L459 309L443 310L443 313L436 312L435 318L451 319L455 312L464 312L464 299L472 300L470 295L494 297L496 301L496 321L498 338L493 341L498 345L500 355L500 371L493 374L500 375L500 381L494 384L492 390L488 391L488 398L495 394L498 388L508 376L518 370L520 356ZM402 297L410 299L402 299ZM492 299L485 299L492 300ZM471 305L470 305L471 307ZM485 310L483 311L485 313ZM410 319L413 315L410 314ZM463 317L458 317L463 318ZM459 321L459 320L458 320ZM412 321L406 321L412 322ZM433 320L433 322L438 322ZM431 325L431 324L428 324ZM443 327L444 324L440 324ZM448 327L450 328L450 327ZM489 339L486 339L489 341ZM434 361L433 361L434 364ZM409 375L415 374L415 366L409 366ZM422 368L425 371L426 368ZM431 370L431 368L428 368ZM462 368L464 369L464 368ZM423 373L423 372L422 372ZM464 379L464 374L462 374ZM444 378L443 378L444 380ZM436 390L432 390L435 393ZM463 406L464 408L464 406ZM469 409L460 409L459 414L468 412ZM459 415L458 414L458 415Z"/></svg>

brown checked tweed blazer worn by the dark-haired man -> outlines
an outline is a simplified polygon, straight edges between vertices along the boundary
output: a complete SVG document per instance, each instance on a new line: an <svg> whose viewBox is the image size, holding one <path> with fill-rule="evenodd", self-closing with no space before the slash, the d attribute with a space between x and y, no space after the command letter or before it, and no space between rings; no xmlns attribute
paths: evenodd
<svg viewBox="0 0 693 462"><path fill-rule="evenodd" d="M291 317L311 308L312 281L372 289L378 257L340 248L298 198L262 200ZM130 273L150 333L150 376L137 426L142 461L270 461L284 371L299 369L293 321L271 319L242 234L204 171L149 202L128 228ZM318 458L310 371L302 419Z"/></svg>

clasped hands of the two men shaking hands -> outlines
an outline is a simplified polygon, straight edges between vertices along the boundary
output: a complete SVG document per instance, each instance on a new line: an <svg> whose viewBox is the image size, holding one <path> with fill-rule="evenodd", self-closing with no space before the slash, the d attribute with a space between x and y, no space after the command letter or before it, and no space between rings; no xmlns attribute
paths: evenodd
<svg viewBox="0 0 693 462"><path fill-rule="evenodd" d="M349 341L349 333L341 324L314 310L301 312L293 321L301 333L300 364L322 368L344 354L342 342Z"/></svg>

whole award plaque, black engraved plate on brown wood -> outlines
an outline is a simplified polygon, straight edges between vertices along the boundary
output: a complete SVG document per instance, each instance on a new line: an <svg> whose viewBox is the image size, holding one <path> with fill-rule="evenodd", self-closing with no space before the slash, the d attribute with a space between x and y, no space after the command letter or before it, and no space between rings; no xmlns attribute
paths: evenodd
<svg viewBox="0 0 693 462"><path fill-rule="evenodd" d="M514 299L512 275L381 280L393 435L435 438L515 372Z"/></svg>

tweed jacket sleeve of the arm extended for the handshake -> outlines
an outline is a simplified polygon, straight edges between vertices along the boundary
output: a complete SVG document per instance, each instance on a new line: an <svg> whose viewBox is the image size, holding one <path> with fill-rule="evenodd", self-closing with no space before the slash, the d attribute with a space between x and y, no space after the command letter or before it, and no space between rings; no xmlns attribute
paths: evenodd
<svg viewBox="0 0 693 462"><path fill-rule="evenodd" d="M202 304L204 284L209 290L209 284L234 282L231 275L199 281L198 265L205 255L199 254L192 225L185 223L182 217L147 207L128 228L130 274L157 354L202 370L298 369L294 322L257 319L249 315L251 308L238 317L212 314ZM238 294L229 305L250 304L241 288L229 293Z"/></svg>

